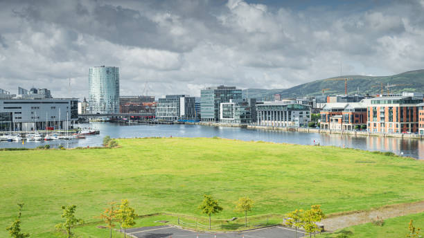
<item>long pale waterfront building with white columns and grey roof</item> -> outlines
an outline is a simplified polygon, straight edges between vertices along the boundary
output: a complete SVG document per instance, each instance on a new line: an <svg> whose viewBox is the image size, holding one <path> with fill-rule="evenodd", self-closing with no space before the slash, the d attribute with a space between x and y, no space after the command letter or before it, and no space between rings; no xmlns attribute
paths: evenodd
<svg viewBox="0 0 424 238"><path fill-rule="evenodd" d="M256 104L257 125L272 127L303 127L310 122L310 106L264 102Z"/></svg>

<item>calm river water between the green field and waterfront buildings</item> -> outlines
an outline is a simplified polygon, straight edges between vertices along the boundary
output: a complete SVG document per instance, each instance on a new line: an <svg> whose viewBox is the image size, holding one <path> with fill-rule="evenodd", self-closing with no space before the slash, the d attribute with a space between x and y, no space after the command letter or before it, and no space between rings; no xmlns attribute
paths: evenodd
<svg viewBox="0 0 424 238"><path fill-rule="evenodd" d="M382 138L378 136L347 136L340 134L302 133L289 131L268 131L242 129L237 127L206 127L200 125L114 125L108 122L92 122L77 127L91 127L100 130L100 135L87 136L81 140L53 140L48 142L0 142L0 147L27 147L33 148L39 145L51 147L90 147L101 146L103 137L134 138L134 137L213 137L238 139L238 140L263 140L274 143L292 143L312 145L313 141L319 141L321 145L334 145L337 147L351 147L370 151L394 152L404 156L424 159L424 140L403 140L401 138Z"/></svg>

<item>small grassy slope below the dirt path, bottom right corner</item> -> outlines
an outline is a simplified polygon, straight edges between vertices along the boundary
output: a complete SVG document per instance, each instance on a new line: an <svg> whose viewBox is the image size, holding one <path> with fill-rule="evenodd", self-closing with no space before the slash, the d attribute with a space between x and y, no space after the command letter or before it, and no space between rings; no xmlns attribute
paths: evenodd
<svg viewBox="0 0 424 238"><path fill-rule="evenodd" d="M403 217L395 217L385 220L384 226L375 226L373 223L366 223L359 226L351 226L338 230L334 234L321 235L322 238L337 237L346 234L349 238L373 237L406 237L410 220L414 220L414 226L424 228L424 213L410 214ZM421 232L422 233L422 232ZM421 234L422 235L422 234Z"/></svg>

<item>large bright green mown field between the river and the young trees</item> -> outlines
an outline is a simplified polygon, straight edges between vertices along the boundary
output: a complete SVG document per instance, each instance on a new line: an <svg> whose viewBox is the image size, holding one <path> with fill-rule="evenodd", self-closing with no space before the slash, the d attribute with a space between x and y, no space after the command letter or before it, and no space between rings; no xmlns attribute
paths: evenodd
<svg viewBox="0 0 424 238"><path fill-rule="evenodd" d="M203 194L241 217L240 196L256 202L249 214L284 214L321 204L327 214L424 199L424 163L355 149L213 138L118 140L116 149L0 152L0 237L25 203L23 229L46 237L61 221L61 205L98 221L110 201L128 199L139 214L204 216ZM3 228L2 228L3 227ZM43 235L44 234L44 235Z"/></svg>

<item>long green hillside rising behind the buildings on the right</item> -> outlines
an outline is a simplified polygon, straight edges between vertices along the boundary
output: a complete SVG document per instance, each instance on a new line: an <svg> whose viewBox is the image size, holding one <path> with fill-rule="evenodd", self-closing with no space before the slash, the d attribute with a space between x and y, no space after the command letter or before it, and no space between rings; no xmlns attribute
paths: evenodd
<svg viewBox="0 0 424 238"><path fill-rule="evenodd" d="M355 94L358 91L361 94L378 94L381 91L381 83L383 83L383 85L402 84L391 87L393 93L400 93L403 91L424 92L424 69L408 71L391 76L371 77L363 75L344 75L341 77L348 77L352 79L348 81L348 94ZM326 95L344 94L344 81L333 81L330 80L330 78L317 80L306 84L300 84L290 89L282 89L279 91L270 89L270 91L261 91L263 94L260 95L260 97L263 98L266 95L275 93L281 93L282 98L294 98L305 95L315 96L322 95L322 89L329 89L326 91ZM385 93L387 93L386 87ZM249 98L254 97L250 97L249 95Z"/></svg>

